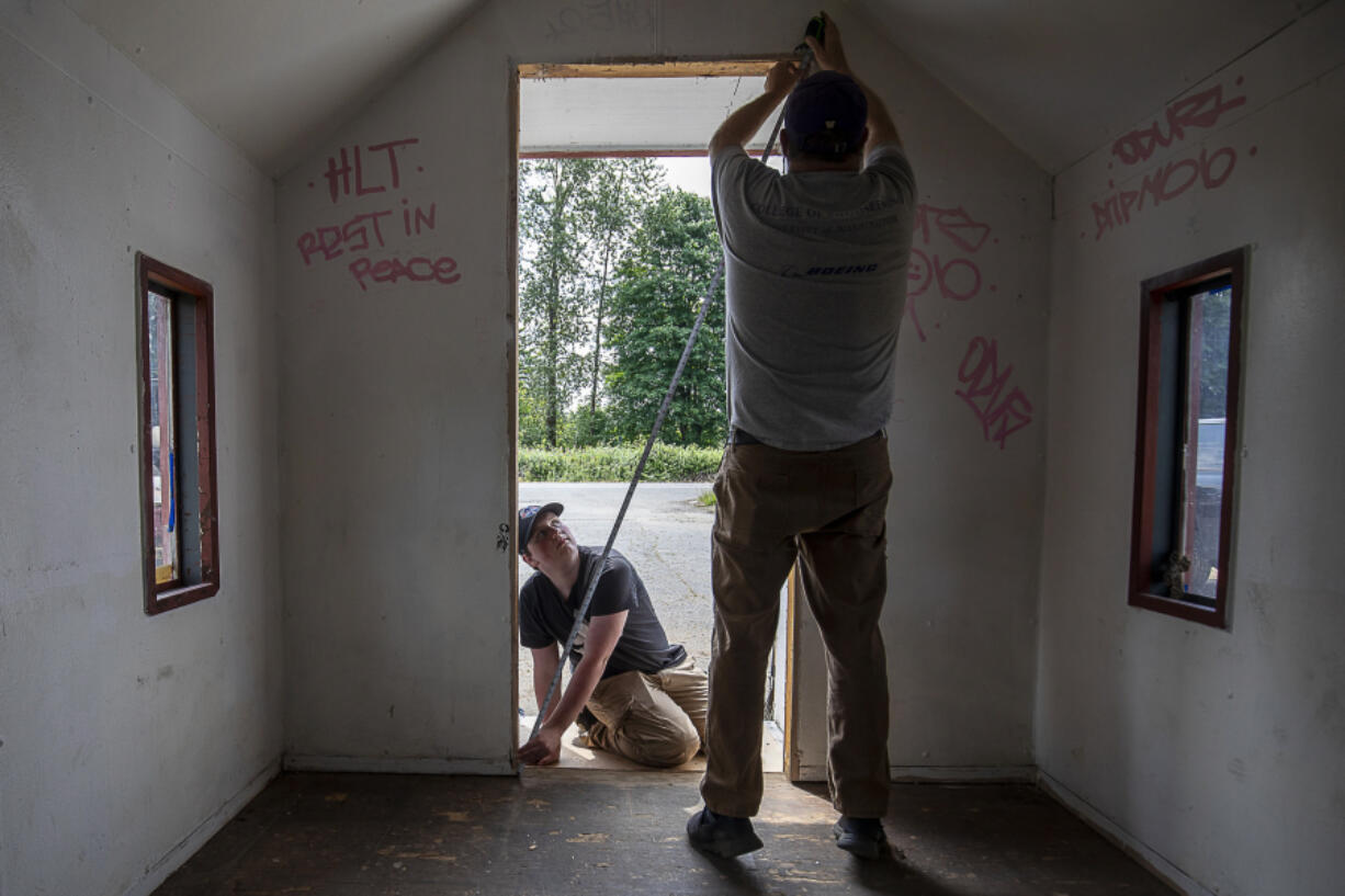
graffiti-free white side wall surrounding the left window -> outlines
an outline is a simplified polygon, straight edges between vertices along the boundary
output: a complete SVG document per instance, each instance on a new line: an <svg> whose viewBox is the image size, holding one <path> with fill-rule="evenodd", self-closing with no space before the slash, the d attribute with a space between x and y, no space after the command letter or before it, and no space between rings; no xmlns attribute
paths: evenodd
<svg viewBox="0 0 1345 896"><path fill-rule="evenodd" d="M273 187L0 3L0 892L147 893L278 768ZM134 253L215 289L217 596L143 611Z"/></svg>

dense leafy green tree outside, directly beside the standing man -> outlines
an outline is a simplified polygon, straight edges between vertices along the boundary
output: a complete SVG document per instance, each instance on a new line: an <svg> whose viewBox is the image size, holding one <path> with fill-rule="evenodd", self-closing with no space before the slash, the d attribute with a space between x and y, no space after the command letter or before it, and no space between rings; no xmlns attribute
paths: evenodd
<svg viewBox="0 0 1345 896"><path fill-rule="evenodd" d="M718 262L709 199L666 191L640 215L611 303L615 363L607 382L621 439L643 439L652 429ZM663 422L662 440L670 444L713 445L725 436L724 285L716 292Z"/></svg>

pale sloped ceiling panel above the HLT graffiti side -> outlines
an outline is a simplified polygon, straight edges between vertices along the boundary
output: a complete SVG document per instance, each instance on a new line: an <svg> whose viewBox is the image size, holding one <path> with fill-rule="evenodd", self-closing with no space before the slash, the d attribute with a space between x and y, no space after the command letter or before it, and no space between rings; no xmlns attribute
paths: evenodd
<svg viewBox="0 0 1345 896"><path fill-rule="evenodd" d="M196 116L278 175L480 0L66 0Z"/></svg>

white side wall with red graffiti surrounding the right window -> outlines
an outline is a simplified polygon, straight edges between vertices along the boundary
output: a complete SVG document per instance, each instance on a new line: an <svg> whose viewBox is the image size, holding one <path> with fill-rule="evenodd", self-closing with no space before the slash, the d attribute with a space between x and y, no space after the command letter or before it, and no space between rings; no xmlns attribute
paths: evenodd
<svg viewBox="0 0 1345 896"><path fill-rule="evenodd" d="M1037 761L1190 892L1326 896L1345 873L1342 46L1345 4L1328 4L1174 97L1221 90L1200 106L1227 106L1213 120L1138 164L1102 147L1057 182ZM1167 135L1166 109L1135 129ZM1202 156L1210 180L1185 186ZM1108 215L1169 165L1163 202ZM1241 245L1223 631L1126 603L1139 284Z"/></svg>

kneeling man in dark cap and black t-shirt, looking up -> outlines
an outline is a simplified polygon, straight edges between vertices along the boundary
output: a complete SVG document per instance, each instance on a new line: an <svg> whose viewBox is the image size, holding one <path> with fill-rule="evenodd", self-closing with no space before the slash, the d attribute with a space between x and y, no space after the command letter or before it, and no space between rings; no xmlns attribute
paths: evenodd
<svg viewBox="0 0 1345 896"><path fill-rule="evenodd" d="M518 511L523 562L537 572L519 589L519 642L533 651L537 705L546 700L603 552L581 548L557 503ZM644 583L612 550L570 650L570 682L554 698L519 759L547 766L561 756L561 735L580 720L590 747L644 766L681 766L705 733L706 677L682 644L670 644ZM586 709L586 712L585 712Z"/></svg>

